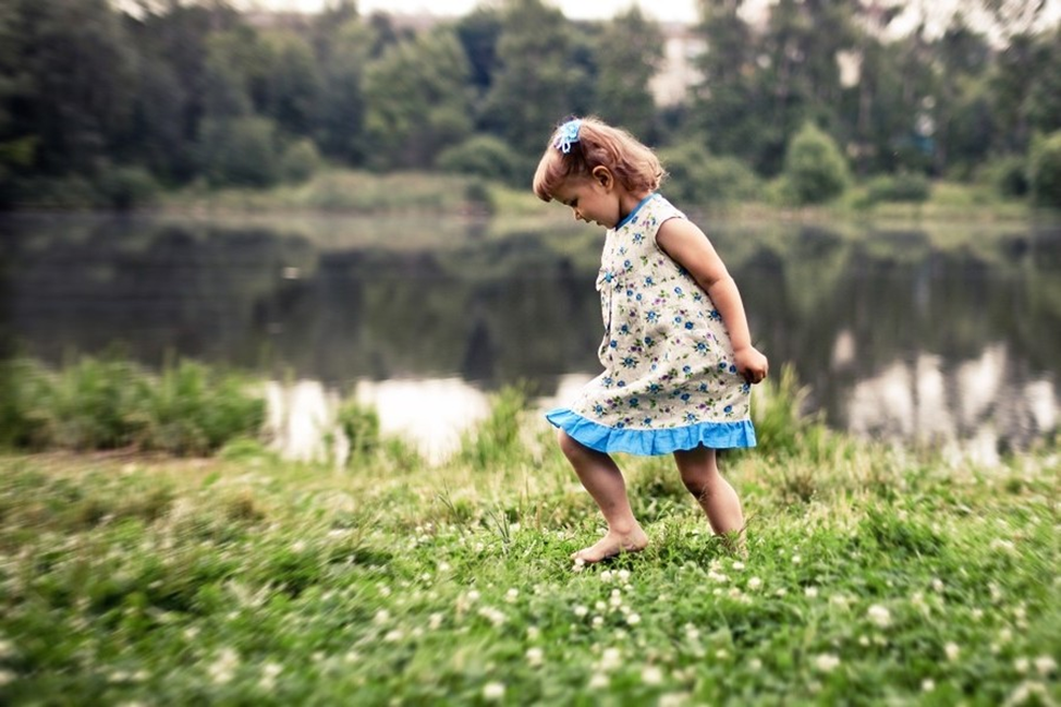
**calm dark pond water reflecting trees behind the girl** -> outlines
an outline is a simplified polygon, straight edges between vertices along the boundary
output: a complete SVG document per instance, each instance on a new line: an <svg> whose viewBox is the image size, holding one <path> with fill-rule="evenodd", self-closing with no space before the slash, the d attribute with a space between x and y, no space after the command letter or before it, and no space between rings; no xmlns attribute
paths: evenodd
<svg viewBox="0 0 1061 707"><path fill-rule="evenodd" d="M831 425L987 456L1057 428L1061 227L700 222L757 345ZM356 392L385 429L452 437L485 392L564 398L598 371L602 234L495 228L7 217L0 336L50 362L118 348L252 368L303 381L277 404Z"/></svg>

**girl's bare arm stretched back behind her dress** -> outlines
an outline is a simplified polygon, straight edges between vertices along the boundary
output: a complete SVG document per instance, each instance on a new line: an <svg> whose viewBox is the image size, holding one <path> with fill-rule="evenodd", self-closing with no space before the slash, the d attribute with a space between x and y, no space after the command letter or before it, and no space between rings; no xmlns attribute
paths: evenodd
<svg viewBox="0 0 1061 707"><path fill-rule="evenodd" d="M769 363L752 345L748 320L736 282L725 269L715 246L697 225L685 219L668 219L656 233L656 243L704 288L730 332L737 373L757 383L766 378Z"/></svg>

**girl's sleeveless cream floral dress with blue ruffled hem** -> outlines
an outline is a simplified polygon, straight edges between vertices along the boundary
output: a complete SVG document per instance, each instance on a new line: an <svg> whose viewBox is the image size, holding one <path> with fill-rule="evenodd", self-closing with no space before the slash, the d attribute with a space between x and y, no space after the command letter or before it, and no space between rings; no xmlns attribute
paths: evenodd
<svg viewBox="0 0 1061 707"><path fill-rule="evenodd" d="M674 218L685 215L651 194L607 232L597 277L605 370L570 407L546 413L597 451L755 447L751 386L736 373L722 317L656 243Z"/></svg>

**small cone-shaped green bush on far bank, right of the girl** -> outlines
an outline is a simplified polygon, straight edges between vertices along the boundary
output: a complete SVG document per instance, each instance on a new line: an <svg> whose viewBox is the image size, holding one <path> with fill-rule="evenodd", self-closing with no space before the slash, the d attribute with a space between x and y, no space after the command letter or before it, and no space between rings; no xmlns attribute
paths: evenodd
<svg viewBox="0 0 1061 707"><path fill-rule="evenodd" d="M784 176L798 204L824 204L847 187L847 162L831 137L804 123L789 143Z"/></svg>

